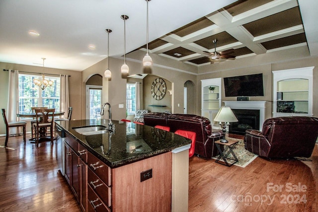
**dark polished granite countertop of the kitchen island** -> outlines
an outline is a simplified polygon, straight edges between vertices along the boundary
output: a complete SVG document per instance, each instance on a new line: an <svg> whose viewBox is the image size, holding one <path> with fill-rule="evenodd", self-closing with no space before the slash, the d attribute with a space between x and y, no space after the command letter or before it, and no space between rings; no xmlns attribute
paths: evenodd
<svg viewBox="0 0 318 212"><path fill-rule="evenodd" d="M113 121L114 133L84 136L74 130L83 126L104 126L108 120L57 121L67 133L111 168L191 144L191 140L170 132L132 122Z"/></svg>

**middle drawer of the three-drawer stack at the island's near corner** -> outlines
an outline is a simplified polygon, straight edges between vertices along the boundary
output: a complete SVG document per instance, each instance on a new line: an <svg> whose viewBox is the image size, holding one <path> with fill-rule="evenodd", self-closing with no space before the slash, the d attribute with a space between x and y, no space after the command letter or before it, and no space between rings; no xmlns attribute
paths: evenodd
<svg viewBox="0 0 318 212"><path fill-rule="evenodd" d="M106 206L111 206L111 190L106 186L93 171L88 169L88 187L90 186L93 191L100 197Z"/></svg>

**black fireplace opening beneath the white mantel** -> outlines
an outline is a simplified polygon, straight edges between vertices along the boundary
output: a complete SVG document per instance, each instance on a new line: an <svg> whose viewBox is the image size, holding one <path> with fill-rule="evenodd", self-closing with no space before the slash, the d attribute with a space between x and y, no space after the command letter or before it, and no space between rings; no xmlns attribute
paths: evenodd
<svg viewBox="0 0 318 212"><path fill-rule="evenodd" d="M259 129L259 110L232 109L232 111L239 121L231 123L229 133L245 135L245 130Z"/></svg>

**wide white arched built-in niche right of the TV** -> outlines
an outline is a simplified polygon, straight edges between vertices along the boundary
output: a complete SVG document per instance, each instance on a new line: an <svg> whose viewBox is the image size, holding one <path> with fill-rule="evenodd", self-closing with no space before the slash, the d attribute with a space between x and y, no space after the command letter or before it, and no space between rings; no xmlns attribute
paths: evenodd
<svg viewBox="0 0 318 212"><path fill-rule="evenodd" d="M273 117L313 116L313 69L272 71Z"/></svg>

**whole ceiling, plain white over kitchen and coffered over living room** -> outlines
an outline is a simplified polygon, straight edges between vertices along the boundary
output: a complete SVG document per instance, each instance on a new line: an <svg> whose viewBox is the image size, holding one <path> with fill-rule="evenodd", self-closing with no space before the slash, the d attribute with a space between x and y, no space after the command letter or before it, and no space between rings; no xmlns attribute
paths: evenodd
<svg viewBox="0 0 318 212"><path fill-rule="evenodd" d="M145 0L1 0L0 62L42 66L46 58L45 67L82 71L108 57L105 29L112 30L109 57L123 59L123 14L129 16L126 51L146 51L146 5ZM207 66L211 55L205 52L214 52L216 39L216 51L235 60L297 47L318 56L317 9L317 0L151 0L149 52Z"/></svg>

